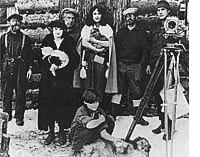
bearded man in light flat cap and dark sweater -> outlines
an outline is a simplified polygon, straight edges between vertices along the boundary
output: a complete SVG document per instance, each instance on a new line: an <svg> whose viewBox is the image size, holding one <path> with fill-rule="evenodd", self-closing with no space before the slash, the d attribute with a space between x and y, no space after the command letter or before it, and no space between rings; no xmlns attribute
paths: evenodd
<svg viewBox="0 0 200 157"><path fill-rule="evenodd" d="M127 97L126 109L131 111L133 100L143 95L141 70L148 59L148 42L145 31L137 24L138 8L128 8L123 15L125 27L116 35L118 90L122 94L121 103ZM148 125L148 122L141 118L139 124Z"/></svg>

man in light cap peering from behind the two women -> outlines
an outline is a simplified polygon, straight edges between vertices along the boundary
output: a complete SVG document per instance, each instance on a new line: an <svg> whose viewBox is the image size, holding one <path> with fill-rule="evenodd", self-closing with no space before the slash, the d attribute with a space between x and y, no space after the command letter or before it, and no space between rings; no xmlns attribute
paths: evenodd
<svg viewBox="0 0 200 157"><path fill-rule="evenodd" d="M72 8L64 8L61 11L62 18L66 25L66 31L77 43L80 37L80 29L78 28L79 13Z"/></svg>

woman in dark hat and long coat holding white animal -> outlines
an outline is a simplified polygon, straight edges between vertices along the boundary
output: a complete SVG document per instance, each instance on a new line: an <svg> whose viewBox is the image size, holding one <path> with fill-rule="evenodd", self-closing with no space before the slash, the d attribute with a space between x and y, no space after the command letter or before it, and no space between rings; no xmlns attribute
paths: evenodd
<svg viewBox="0 0 200 157"><path fill-rule="evenodd" d="M79 55L74 40L64 33L61 21L50 23L52 33L42 42L42 80L40 84L38 127L49 135L45 144L54 138L55 121L59 124L59 143L66 142L65 124L70 114L70 93L73 85L74 69L79 64ZM57 54L61 54L60 57ZM71 122L68 122L69 125Z"/></svg>

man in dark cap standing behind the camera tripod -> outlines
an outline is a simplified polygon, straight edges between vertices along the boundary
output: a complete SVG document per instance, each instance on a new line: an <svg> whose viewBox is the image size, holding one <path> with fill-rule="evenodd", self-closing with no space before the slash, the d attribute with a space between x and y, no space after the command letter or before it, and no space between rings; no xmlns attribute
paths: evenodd
<svg viewBox="0 0 200 157"><path fill-rule="evenodd" d="M156 5L157 11L157 19L153 20L150 24L150 40L151 40L151 50L150 50L150 58L149 58L149 65L147 66L146 72L147 74L151 74L155 68L155 64L160 56L161 49L165 47L165 39L163 34L165 33L164 30L164 22L166 18L169 16L170 13L170 5L167 1L161 0ZM161 62L160 64L164 64ZM152 92L152 96L155 98L155 105L157 106L159 120L161 124L154 130L152 130L155 134L160 134L164 129L164 113L161 112L163 103L162 98L160 96L160 91L163 89L164 86L164 72L162 71L156 86ZM168 121L169 125L169 136L168 139L171 139L171 120ZM164 134L163 139L166 140L166 134Z"/></svg>

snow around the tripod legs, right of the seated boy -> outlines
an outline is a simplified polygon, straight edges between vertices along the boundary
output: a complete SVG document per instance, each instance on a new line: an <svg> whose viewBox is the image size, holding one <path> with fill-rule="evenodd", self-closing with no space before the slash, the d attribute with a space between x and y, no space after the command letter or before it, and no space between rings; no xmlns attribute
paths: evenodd
<svg viewBox="0 0 200 157"><path fill-rule="evenodd" d="M149 126L137 125L131 139L137 136L145 137L151 144L150 157L165 157L166 142L162 139L164 133L153 134L152 129L160 125L158 117L144 117ZM118 117L113 135L125 138L132 122L132 116ZM169 142L169 144L171 141ZM176 121L176 133L173 143L173 157L189 157L189 119L182 118ZM168 146L170 148L170 145ZM170 151L170 150L169 150Z"/></svg>

